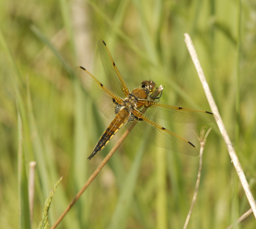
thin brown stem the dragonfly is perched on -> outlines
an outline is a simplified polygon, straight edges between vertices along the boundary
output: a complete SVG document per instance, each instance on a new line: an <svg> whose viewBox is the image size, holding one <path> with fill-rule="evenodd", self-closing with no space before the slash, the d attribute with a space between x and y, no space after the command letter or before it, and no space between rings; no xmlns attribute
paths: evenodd
<svg viewBox="0 0 256 229"><path fill-rule="evenodd" d="M157 95L160 94L160 92L163 90L164 88L162 87L162 85L160 85L160 87L156 90L156 92L153 94L153 97L157 97ZM144 113L146 111L146 108L143 108L143 110L141 111L142 113ZM65 217L65 215L68 213L68 211L72 208L72 206L77 202L77 200L81 197L81 195L84 193L84 191L87 189L87 187L91 184L91 182L94 180L94 178L99 174L100 170L104 167L104 165L107 163L107 161L110 159L110 157L115 153L115 151L117 150L117 148L122 144L123 140L125 140L125 138L127 137L127 135L130 133L131 129L133 129L134 125L136 124L136 121L133 121L133 123L131 124L131 126L124 132L124 134L122 135L122 137L120 137L120 139L117 141L117 143L115 144L115 146L112 148L112 150L108 153L108 155L104 158L104 160L102 161L102 163L100 163L100 165L98 166L98 168L94 171L94 173L92 174L92 176L88 179L88 181L84 184L83 188L78 192L78 194L75 196L75 198L70 202L70 204L66 207L65 211L63 211L63 213L61 214L61 216L57 219L57 221L53 224L53 226L50 229L55 229L58 224L60 223L60 221L62 221L62 219Z"/></svg>

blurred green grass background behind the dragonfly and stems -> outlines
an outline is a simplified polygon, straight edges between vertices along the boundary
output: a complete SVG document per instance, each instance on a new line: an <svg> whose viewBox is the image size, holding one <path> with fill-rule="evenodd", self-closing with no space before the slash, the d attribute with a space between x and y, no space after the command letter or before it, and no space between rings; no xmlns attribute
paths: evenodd
<svg viewBox="0 0 256 229"><path fill-rule="evenodd" d="M19 209L23 215L26 204L19 199L26 200L29 161L37 162L32 228L63 176L53 196L52 225L121 136L123 131L86 160L110 120L92 104L72 71L81 65L108 85L99 39L107 43L131 90L152 79L165 86L161 102L211 111L185 32L256 197L254 0L0 1L1 228L22 224ZM199 148L192 130L199 134L204 125L156 121ZM226 228L250 208L217 124L210 126L188 228ZM18 169L19 142L23 169ZM198 164L198 157L128 136L57 228L182 228ZM253 215L235 226L255 227Z"/></svg>

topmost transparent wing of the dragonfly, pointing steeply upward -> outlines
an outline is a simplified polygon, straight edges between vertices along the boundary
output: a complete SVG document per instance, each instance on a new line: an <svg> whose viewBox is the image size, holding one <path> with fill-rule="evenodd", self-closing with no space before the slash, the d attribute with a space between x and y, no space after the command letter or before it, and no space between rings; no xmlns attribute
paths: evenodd
<svg viewBox="0 0 256 229"><path fill-rule="evenodd" d="M104 40L99 40L98 45L102 65L104 67L105 74L109 80L111 89L121 98L128 97L128 95L130 94L128 85L126 84L121 73L117 69L117 66L113 61L113 58L109 52L106 43L104 42Z"/></svg>

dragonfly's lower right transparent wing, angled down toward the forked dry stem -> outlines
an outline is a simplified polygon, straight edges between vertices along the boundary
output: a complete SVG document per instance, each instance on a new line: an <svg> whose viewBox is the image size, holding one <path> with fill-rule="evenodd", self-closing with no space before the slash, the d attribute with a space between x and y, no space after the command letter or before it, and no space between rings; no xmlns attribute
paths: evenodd
<svg viewBox="0 0 256 229"><path fill-rule="evenodd" d="M198 150L186 139L158 125L141 112L134 110L136 125L131 133L148 143L186 155L197 156Z"/></svg>

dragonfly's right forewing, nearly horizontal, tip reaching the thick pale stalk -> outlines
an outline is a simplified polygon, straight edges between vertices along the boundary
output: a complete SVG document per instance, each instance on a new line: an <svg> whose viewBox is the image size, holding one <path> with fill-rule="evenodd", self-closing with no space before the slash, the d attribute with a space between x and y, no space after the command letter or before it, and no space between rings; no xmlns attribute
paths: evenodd
<svg viewBox="0 0 256 229"><path fill-rule="evenodd" d="M215 114L208 111L172 106L152 100L139 100L138 104L148 108L146 115L151 114L174 123L212 123L219 120Z"/></svg>

